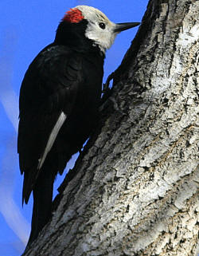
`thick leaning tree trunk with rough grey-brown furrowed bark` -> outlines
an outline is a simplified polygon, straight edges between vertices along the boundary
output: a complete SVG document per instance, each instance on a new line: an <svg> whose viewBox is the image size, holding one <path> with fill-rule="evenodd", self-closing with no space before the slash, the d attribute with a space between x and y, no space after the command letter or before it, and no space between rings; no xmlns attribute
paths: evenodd
<svg viewBox="0 0 199 256"><path fill-rule="evenodd" d="M198 252L199 1L151 0L101 127L25 255Z"/></svg>

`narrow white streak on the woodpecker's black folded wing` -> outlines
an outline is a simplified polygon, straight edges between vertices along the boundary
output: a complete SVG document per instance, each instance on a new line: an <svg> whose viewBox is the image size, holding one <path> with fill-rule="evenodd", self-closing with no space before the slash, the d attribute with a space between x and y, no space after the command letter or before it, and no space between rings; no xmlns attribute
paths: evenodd
<svg viewBox="0 0 199 256"><path fill-rule="evenodd" d="M51 150L51 148L53 147L53 143L54 143L55 139L57 138L57 134L60 131L61 126L64 124L65 119L66 119L66 115L64 114L64 112L61 112L60 116L57 120L57 123L53 127L52 132L50 133L49 140L45 147L45 152L43 153L43 156L41 157L41 159L39 159L39 163L37 166L38 169L41 169L43 163L45 162L45 158L46 158L47 154L49 153L49 151Z"/></svg>

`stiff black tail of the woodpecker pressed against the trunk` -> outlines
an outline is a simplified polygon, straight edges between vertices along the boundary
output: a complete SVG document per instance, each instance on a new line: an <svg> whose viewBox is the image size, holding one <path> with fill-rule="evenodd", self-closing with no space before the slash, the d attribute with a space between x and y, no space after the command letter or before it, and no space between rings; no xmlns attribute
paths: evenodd
<svg viewBox="0 0 199 256"><path fill-rule="evenodd" d="M33 187L31 232L25 250L37 238L39 232L49 222L51 217L54 175L48 171L45 169L41 170L41 174Z"/></svg>

